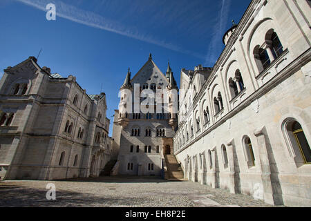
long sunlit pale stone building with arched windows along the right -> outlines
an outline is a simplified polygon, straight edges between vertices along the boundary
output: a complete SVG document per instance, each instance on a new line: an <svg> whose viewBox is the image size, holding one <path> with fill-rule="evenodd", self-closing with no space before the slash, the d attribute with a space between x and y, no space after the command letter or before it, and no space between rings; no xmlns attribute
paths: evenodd
<svg viewBox="0 0 311 221"><path fill-rule="evenodd" d="M310 19L310 1L254 0L213 68L182 69L173 153L185 177L311 206Z"/></svg>

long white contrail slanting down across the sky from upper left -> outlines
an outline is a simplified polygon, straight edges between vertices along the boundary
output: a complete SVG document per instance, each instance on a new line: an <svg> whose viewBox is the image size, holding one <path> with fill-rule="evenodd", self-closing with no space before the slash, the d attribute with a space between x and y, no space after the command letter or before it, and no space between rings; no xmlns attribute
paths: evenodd
<svg viewBox="0 0 311 221"><path fill-rule="evenodd" d="M191 55L194 57L198 57L199 59L205 59L204 55L200 55L199 53L192 52L190 50L185 50L180 48L179 46L175 46L173 44L168 44L164 41L159 41L157 39L153 39L148 35L142 35L136 28L129 28L127 26L123 26L121 23L117 23L116 21L111 21L106 19L100 15L97 15L93 12L88 12L86 10L81 10L76 8L75 6L70 6L62 1L57 0L16 0L21 3L25 3L28 6L32 6L39 10L47 11L46 5L48 3L54 3L56 6L57 17L62 17L64 19L68 19L70 21L74 21L76 23L81 23L86 26L90 26L93 28L99 28L102 30L106 30L109 32L114 32L119 35L124 35L126 37L131 37L133 39L138 39L140 41L147 42L149 44L154 44L160 46L162 48L167 48L169 50L174 50L176 52L182 52L186 55ZM133 31L136 30L136 31Z"/></svg>

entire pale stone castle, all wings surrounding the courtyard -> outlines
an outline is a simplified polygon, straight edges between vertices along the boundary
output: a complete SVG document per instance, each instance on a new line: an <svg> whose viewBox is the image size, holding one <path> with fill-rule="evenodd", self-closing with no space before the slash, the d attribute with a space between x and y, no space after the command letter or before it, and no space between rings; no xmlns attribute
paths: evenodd
<svg viewBox="0 0 311 221"><path fill-rule="evenodd" d="M211 68L180 88L151 55L120 84L113 135L106 95L30 57L0 81L1 179L157 175L268 204L311 205L310 1L252 0ZM116 95L115 95L116 96Z"/></svg>

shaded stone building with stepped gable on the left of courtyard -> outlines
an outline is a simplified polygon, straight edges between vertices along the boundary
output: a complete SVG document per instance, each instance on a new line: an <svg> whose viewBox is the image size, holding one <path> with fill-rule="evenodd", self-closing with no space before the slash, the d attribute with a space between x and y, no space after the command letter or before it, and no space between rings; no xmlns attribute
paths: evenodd
<svg viewBox="0 0 311 221"><path fill-rule="evenodd" d="M1 179L98 176L111 158L106 95L87 95L75 77L40 68L35 57L0 81Z"/></svg>

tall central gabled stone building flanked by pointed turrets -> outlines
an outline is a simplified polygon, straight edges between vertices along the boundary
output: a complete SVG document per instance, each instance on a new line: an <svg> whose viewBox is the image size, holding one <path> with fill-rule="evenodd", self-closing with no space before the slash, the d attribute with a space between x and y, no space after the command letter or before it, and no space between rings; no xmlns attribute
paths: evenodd
<svg viewBox="0 0 311 221"><path fill-rule="evenodd" d="M113 124L113 140L120 147L117 173L164 175L164 155L173 153L178 122L177 110L173 110L178 88L171 67L163 75L150 55L132 79L130 71L127 73L119 95Z"/></svg>

